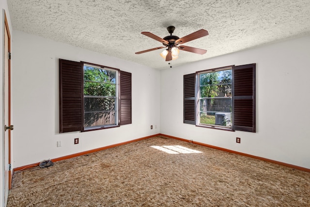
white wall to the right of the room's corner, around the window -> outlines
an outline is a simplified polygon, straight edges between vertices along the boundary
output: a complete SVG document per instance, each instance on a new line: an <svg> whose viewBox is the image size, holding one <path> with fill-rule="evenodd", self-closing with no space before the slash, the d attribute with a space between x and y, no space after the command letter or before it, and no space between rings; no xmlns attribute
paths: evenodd
<svg viewBox="0 0 310 207"><path fill-rule="evenodd" d="M306 36L162 70L160 132L310 168L309 48ZM183 124L183 75L251 63L256 63L256 133Z"/></svg>

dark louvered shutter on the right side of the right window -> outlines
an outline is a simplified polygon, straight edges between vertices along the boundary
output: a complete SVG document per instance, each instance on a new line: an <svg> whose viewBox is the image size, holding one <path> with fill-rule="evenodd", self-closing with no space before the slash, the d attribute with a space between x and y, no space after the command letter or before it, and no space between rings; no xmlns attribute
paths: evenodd
<svg viewBox="0 0 310 207"><path fill-rule="evenodd" d="M233 66L234 130L256 132L256 64Z"/></svg>

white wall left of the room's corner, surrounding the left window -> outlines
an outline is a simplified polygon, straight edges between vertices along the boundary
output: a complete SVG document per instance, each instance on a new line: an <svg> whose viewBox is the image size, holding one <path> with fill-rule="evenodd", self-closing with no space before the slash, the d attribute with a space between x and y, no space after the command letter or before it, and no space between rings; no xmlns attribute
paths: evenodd
<svg viewBox="0 0 310 207"><path fill-rule="evenodd" d="M89 50L13 31L13 168L122 143L160 132L160 71ZM59 59L132 73L132 124L59 133ZM150 129L151 125L157 128ZM74 144L79 138L79 144ZM62 141L62 147L57 147Z"/></svg>

